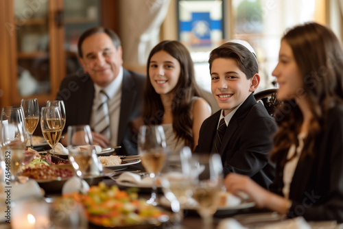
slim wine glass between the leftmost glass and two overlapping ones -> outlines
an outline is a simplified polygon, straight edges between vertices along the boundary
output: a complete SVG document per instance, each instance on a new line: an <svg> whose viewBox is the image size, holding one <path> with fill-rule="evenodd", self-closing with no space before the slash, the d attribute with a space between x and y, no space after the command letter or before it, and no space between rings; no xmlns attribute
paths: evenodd
<svg viewBox="0 0 343 229"><path fill-rule="evenodd" d="M32 134L34 134L39 122L38 99L21 99L21 106L23 107L26 130L29 133L29 145L31 149L34 149Z"/></svg>

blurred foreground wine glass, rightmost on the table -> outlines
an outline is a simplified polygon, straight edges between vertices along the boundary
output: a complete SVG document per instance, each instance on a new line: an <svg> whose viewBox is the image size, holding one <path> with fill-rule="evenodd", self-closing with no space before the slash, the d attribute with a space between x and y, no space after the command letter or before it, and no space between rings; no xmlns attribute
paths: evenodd
<svg viewBox="0 0 343 229"><path fill-rule="evenodd" d="M219 154L196 154L191 159L193 199L204 221L204 228L212 228L222 191L222 160Z"/></svg>

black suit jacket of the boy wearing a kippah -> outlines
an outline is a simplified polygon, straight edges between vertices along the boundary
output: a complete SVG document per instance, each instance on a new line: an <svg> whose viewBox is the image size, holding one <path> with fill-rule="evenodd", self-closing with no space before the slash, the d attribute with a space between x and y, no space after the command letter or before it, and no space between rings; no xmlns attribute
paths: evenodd
<svg viewBox="0 0 343 229"><path fill-rule="evenodd" d="M220 112L206 119L200 128L198 146L194 152L211 153L217 131ZM220 155L224 176L232 172L250 176L268 189L274 178L274 166L268 160L272 149L272 136L277 127L263 104L257 103L254 95L244 101L233 115L222 139Z"/></svg>

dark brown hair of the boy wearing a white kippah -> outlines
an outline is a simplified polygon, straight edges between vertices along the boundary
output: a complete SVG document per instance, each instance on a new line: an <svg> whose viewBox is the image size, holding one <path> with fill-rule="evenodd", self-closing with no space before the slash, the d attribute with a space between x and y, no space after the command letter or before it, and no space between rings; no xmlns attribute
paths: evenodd
<svg viewBox="0 0 343 229"><path fill-rule="evenodd" d="M259 64L249 49L238 43L227 42L220 47L213 49L210 53L209 64L210 72L213 60L217 58L234 59L237 61L239 69L250 79L256 73L259 73Z"/></svg>

